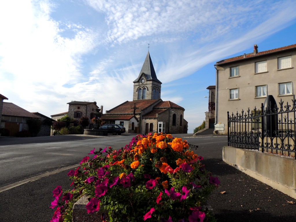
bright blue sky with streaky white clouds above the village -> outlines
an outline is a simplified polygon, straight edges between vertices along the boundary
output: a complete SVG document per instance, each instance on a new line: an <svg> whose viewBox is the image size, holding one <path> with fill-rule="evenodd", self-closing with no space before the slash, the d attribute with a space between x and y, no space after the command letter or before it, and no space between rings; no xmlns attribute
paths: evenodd
<svg viewBox="0 0 296 222"><path fill-rule="evenodd" d="M295 44L295 8L294 0L1 1L0 94L49 117L72 100L105 112L133 99L149 43L161 98L185 108L192 133L205 119L214 64L254 44Z"/></svg>

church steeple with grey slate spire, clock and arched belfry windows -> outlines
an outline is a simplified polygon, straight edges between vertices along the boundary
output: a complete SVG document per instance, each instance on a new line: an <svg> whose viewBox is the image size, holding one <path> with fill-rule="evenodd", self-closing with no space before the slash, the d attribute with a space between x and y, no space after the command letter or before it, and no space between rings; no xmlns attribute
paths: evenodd
<svg viewBox="0 0 296 222"><path fill-rule="evenodd" d="M142 99L160 99L161 82L157 79L152 60L147 53L138 78L133 81L133 101Z"/></svg>

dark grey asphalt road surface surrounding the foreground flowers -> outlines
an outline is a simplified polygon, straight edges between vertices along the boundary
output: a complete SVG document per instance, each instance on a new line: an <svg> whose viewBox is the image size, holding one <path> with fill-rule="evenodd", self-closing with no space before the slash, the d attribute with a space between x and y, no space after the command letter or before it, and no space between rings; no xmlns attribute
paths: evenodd
<svg viewBox="0 0 296 222"><path fill-rule="evenodd" d="M120 148L131 138L132 135L108 136L7 146L1 145L0 139L0 189L5 184L49 172L48 176L0 191L0 221L49 221L54 212L49 208L52 190L57 185L70 188L71 182L67 177L69 170L50 172L78 164L94 147ZM209 200L218 221L296 221L296 204L287 203L296 200L222 161L222 147L227 145L227 137L185 136L183 139L199 146L195 151L205 158L206 169L221 181Z"/></svg>

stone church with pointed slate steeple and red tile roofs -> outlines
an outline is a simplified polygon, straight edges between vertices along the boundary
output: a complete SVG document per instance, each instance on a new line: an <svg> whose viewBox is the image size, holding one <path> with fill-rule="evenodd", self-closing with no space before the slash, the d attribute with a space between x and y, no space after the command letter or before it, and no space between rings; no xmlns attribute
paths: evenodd
<svg viewBox="0 0 296 222"><path fill-rule="evenodd" d="M161 84L148 51L140 74L133 81L133 101L107 110L101 119L124 126L127 133L187 133L185 109L161 99Z"/></svg>

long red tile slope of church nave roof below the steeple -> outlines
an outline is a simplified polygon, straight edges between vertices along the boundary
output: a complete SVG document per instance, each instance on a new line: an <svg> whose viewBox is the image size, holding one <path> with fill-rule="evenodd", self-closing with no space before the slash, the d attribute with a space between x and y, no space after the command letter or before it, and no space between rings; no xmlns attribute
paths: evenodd
<svg viewBox="0 0 296 222"><path fill-rule="evenodd" d="M141 110L146 109L147 107L151 106L153 103L157 101L162 101L161 99L145 99L145 100L137 100L137 101L126 101L117 107L114 107L111 110L106 111L107 114L110 113L133 113L133 107L136 104L136 113L140 112Z"/></svg>

